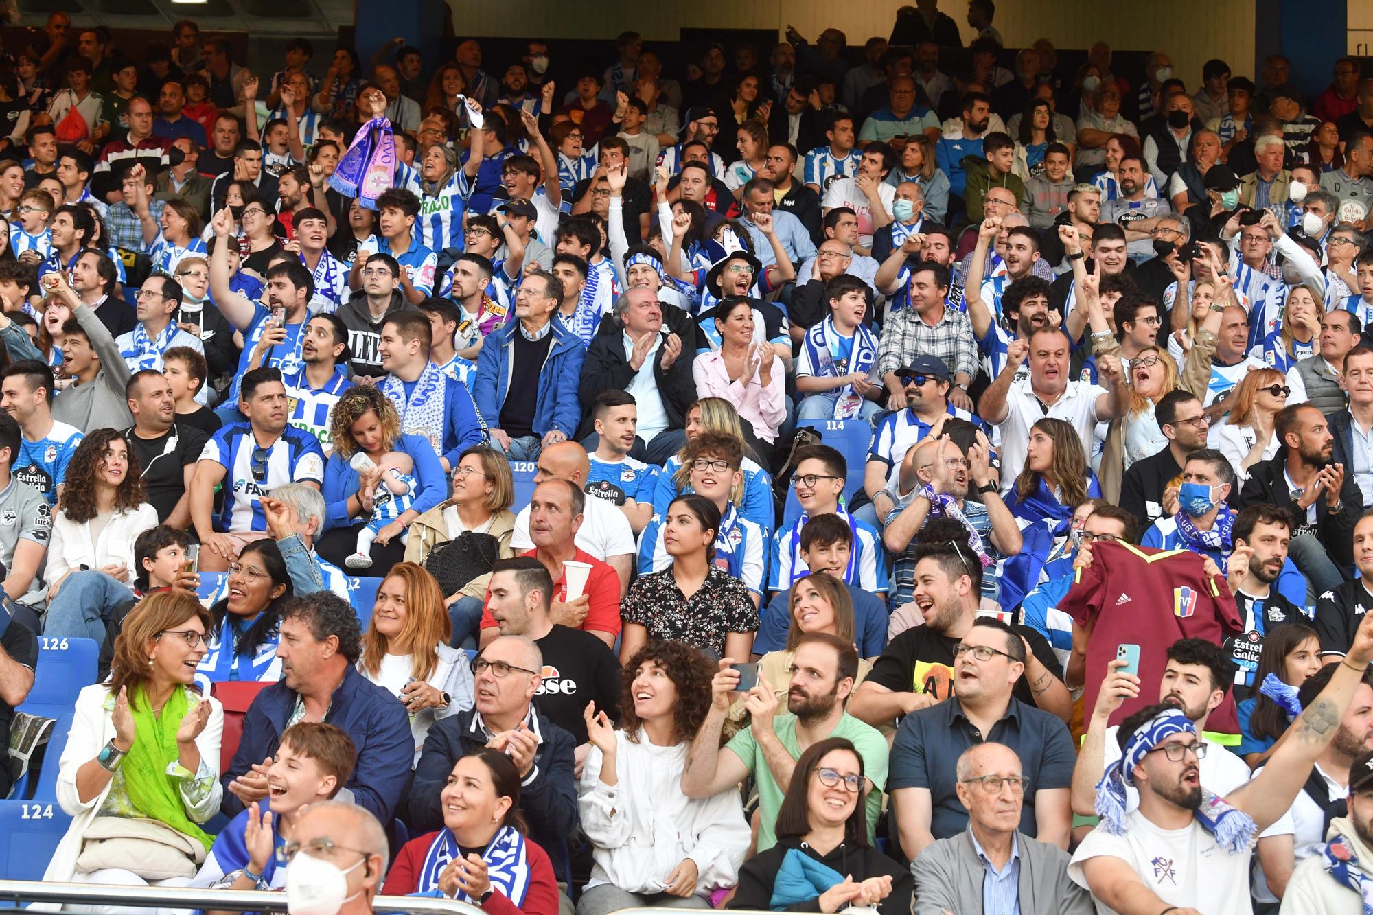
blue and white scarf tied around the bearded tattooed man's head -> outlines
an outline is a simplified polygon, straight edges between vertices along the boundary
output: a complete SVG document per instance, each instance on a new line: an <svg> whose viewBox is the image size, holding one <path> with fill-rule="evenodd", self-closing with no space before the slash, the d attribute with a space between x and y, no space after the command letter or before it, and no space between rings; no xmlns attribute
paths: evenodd
<svg viewBox="0 0 1373 915"><path fill-rule="evenodd" d="M1141 724L1130 735L1120 758L1107 767L1097 782L1097 816L1101 826L1112 835L1126 830L1126 786L1133 783L1134 767L1144 756L1174 734L1196 734L1192 720L1178 709L1167 709ZM1215 844L1230 855L1248 855L1258 827L1254 817L1225 802L1225 798L1201 789L1201 806L1193 816L1207 833L1215 837Z"/></svg>

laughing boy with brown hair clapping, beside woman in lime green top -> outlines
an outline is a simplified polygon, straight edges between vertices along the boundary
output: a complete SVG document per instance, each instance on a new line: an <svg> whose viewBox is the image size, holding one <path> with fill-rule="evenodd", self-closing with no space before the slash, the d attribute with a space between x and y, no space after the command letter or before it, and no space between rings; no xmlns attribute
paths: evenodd
<svg viewBox="0 0 1373 915"><path fill-rule="evenodd" d="M286 867L276 853L295 835L305 811L338 794L357 760L357 747L342 730L323 721L297 721L266 775L268 795L229 820L216 837L191 886L269 890L286 886Z"/></svg>

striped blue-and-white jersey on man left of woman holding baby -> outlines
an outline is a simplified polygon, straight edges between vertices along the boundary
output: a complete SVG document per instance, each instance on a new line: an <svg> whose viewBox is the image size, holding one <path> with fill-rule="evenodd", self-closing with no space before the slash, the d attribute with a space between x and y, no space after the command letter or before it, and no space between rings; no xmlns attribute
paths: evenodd
<svg viewBox="0 0 1373 915"><path fill-rule="evenodd" d="M261 496L288 482L324 482L324 452L308 431L287 426L272 447L262 449L246 423L231 423L205 442L200 460L224 467L224 508L216 518L220 532L266 530Z"/></svg>

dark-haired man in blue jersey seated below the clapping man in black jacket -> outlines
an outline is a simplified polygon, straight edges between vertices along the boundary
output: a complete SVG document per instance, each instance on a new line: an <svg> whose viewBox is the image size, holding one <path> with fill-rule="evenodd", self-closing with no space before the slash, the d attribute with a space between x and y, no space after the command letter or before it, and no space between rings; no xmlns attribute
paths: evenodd
<svg viewBox="0 0 1373 915"><path fill-rule="evenodd" d="M603 390L592 404L596 449L589 455L586 495L618 506L638 534L654 515L654 489L660 467L629 456L638 431L638 405L622 390Z"/></svg>

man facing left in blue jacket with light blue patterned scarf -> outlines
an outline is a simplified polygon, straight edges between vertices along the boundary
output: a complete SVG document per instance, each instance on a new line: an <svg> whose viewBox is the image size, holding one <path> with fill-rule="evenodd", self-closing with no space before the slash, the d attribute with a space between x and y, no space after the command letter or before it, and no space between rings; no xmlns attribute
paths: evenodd
<svg viewBox="0 0 1373 915"><path fill-rule="evenodd" d="M402 310L382 323L382 368L378 387L401 415L401 431L424 436L452 473L470 445L486 444L486 423L472 394L430 361L432 331L420 310Z"/></svg>

